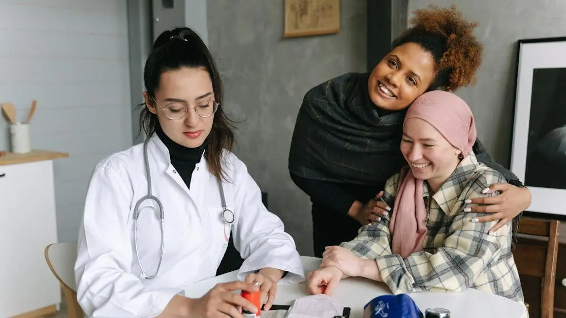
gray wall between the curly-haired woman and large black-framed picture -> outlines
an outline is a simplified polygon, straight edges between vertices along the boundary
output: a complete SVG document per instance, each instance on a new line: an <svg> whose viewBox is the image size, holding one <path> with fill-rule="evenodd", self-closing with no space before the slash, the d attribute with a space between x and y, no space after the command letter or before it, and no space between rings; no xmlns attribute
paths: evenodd
<svg viewBox="0 0 566 318"><path fill-rule="evenodd" d="M411 11L434 4L456 5L466 19L479 23L475 34L484 45L478 84L457 92L473 110L478 137L499 163L511 155L517 40L566 36L566 1L409 0ZM566 208L566 207L565 207ZM566 224L561 240L566 242Z"/></svg>

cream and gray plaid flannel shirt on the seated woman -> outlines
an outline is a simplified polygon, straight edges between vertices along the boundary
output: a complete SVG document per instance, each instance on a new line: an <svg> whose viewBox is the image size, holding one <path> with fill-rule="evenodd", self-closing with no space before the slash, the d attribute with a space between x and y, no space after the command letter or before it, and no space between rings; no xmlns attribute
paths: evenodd
<svg viewBox="0 0 566 318"><path fill-rule="evenodd" d="M398 179L397 173L385 184L383 199L391 208ZM375 259L381 278L394 294L473 288L523 303L511 251L512 224L488 234L496 222L473 223L471 219L481 214L464 212L466 199L495 195L482 194L482 190L497 182L505 182L501 173L479 164L474 153L470 153L436 193L431 195L424 182L423 199L430 200L430 206L422 251L406 259L391 252L389 217L363 226L353 241L341 246L359 258Z"/></svg>

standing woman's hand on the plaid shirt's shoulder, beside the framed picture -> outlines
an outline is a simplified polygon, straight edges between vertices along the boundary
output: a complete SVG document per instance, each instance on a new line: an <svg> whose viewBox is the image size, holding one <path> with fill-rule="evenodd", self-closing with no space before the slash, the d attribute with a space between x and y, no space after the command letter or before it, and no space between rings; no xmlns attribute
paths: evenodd
<svg viewBox="0 0 566 318"><path fill-rule="evenodd" d="M491 213L491 215L478 217L478 222L499 221L492 226L489 232L495 232L501 226L513 220L515 216L525 211L530 206L531 194L529 189L517 187L507 183L492 184L488 188L483 189L482 193L492 193L500 191L495 197L480 197L466 200L468 204L468 212ZM472 205L470 205L472 204ZM477 206L473 204L486 204Z"/></svg>

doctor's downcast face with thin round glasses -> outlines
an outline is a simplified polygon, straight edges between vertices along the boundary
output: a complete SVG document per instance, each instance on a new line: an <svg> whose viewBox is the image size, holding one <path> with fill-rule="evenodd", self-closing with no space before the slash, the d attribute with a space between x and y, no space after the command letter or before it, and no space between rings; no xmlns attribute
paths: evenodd
<svg viewBox="0 0 566 318"><path fill-rule="evenodd" d="M203 144L212 129L214 115L201 117L196 114L211 112L215 95L212 81L204 68L183 67L175 71L161 73L160 86L155 92L155 101L144 93L145 104L149 111L157 114L163 132L179 145L196 148ZM156 104L157 103L157 104ZM178 120L171 120L174 114L189 107L186 115Z"/></svg>

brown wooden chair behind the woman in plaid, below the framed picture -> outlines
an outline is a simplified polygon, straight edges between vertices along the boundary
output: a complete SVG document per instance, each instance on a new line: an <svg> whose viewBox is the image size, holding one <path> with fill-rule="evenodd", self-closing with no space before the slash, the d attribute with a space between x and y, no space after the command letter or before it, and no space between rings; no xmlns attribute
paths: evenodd
<svg viewBox="0 0 566 318"><path fill-rule="evenodd" d="M558 260L559 225L560 222L557 220L522 217L518 229L520 234L518 243L513 251L513 258L521 276L523 292L529 296L532 296L529 293L538 295L538 290L526 288L528 284L524 282L528 280L527 277L539 277L542 280L540 291L541 318L554 317L554 285L556 262ZM528 298L525 295L525 302ZM526 304L526 306L527 308L531 307L529 308L530 317L538 316L533 315L533 313L538 312L537 308L532 308L533 306L529 306L529 304Z"/></svg>

